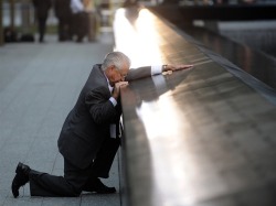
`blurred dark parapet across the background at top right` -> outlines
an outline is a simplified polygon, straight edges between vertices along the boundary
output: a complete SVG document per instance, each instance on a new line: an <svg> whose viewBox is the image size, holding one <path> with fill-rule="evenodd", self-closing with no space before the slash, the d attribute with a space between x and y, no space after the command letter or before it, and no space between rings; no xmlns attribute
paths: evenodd
<svg viewBox="0 0 276 206"><path fill-rule="evenodd" d="M275 20L276 4L224 4L224 6L155 6L160 13L176 24L191 24L193 20L256 21ZM173 15L172 15L173 13Z"/></svg>

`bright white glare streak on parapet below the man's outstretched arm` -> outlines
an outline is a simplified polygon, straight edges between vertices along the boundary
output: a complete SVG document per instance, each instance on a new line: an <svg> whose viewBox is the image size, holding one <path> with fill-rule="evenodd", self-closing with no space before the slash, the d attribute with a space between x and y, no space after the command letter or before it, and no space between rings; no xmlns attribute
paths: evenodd
<svg viewBox="0 0 276 206"><path fill-rule="evenodd" d="M181 112L178 112L178 105L171 97L171 91L160 96L157 101L144 101L136 111L144 122L150 144L158 204L193 204L195 188L189 171L194 169L194 165L187 156L189 145L184 139L190 127L185 117L179 115ZM179 133L183 137L179 137ZM183 151L185 147L188 150ZM185 195L179 191L183 191Z"/></svg>

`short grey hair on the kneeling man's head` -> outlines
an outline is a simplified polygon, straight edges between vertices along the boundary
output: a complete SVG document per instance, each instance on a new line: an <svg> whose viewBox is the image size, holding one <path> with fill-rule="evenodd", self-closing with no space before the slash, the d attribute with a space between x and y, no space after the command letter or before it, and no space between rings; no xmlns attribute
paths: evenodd
<svg viewBox="0 0 276 206"><path fill-rule="evenodd" d="M110 52L105 56L102 69L106 71L109 66L115 65L117 69L121 69L125 65L130 66L130 59L121 52Z"/></svg>

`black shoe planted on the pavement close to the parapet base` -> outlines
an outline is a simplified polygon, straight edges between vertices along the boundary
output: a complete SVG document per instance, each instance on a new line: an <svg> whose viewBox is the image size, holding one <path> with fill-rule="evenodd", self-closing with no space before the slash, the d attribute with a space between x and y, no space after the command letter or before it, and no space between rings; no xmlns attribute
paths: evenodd
<svg viewBox="0 0 276 206"><path fill-rule="evenodd" d="M95 178L92 182L89 182L89 186L85 186L84 191L86 192L95 192L98 194L110 194L110 193L116 193L115 187L108 187L104 185L99 178Z"/></svg>

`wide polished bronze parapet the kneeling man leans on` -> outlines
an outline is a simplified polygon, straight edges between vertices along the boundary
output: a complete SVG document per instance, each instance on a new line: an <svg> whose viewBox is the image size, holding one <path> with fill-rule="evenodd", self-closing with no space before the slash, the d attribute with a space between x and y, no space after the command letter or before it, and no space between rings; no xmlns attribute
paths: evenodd
<svg viewBox="0 0 276 206"><path fill-rule="evenodd" d="M134 67L194 67L121 91L123 205L275 205L275 91L147 9L132 11L117 11L114 32Z"/></svg>

